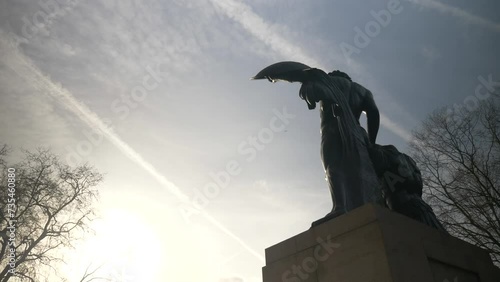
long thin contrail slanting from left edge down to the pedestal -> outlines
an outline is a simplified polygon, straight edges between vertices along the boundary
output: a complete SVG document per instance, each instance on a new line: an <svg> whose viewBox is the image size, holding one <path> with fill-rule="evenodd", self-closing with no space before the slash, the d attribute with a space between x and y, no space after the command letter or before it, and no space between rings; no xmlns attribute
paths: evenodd
<svg viewBox="0 0 500 282"><path fill-rule="evenodd" d="M167 191L172 193L181 202L189 204L189 197L177 185L169 181L162 175L151 163L146 161L137 151L130 147L124 140L122 140L112 128L109 128L90 108L84 103L76 99L71 92L67 89L53 82L49 77L44 75L33 62L25 56L17 46L18 40L13 35L8 34L0 29L0 50L3 52L2 61L12 69L16 74L24 78L40 92L48 95L54 101L57 101L64 106L71 113L75 114L81 121L94 130L101 131L103 135L125 156L148 172L154 177ZM209 215L205 211L200 211L200 214L207 219L212 225L221 230L224 234L228 235L237 241L244 249L249 251L252 255L257 257L262 262L264 258L259 252L253 250L241 238L232 233L217 219Z"/></svg>

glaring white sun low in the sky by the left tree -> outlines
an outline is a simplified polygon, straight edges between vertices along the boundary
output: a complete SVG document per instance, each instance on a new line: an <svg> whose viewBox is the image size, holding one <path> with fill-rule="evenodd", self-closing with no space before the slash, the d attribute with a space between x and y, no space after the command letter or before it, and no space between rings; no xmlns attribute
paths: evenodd
<svg viewBox="0 0 500 282"><path fill-rule="evenodd" d="M79 281L87 267L98 268L95 276L111 281L157 280L154 270L162 264L161 241L154 227L139 214L104 209L91 227L95 236L77 246L67 263L70 281Z"/></svg>

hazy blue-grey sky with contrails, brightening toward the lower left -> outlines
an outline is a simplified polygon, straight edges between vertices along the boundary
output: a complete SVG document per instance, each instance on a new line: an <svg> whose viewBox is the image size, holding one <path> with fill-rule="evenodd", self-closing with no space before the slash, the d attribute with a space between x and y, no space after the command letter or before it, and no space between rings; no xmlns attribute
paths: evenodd
<svg viewBox="0 0 500 282"><path fill-rule="evenodd" d="M95 236L61 267L70 279L102 262L116 281L262 281L265 248L332 203L318 110L297 83L249 78L279 61L347 72L374 94L377 143L406 151L432 111L472 108L500 81L499 10L493 0L2 0L0 143L14 160L43 146L105 174Z"/></svg>

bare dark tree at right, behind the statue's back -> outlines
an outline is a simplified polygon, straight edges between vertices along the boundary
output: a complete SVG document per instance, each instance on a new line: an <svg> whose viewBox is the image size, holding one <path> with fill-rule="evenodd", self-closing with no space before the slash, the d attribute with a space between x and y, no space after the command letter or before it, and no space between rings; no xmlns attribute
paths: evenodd
<svg viewBox="0 0 500 282"><path fill-rule="evenodd" d="M476 107L435 111L413 137L410 154L439 219L452 235L487 249L500 264L498 95Z"/></svg>

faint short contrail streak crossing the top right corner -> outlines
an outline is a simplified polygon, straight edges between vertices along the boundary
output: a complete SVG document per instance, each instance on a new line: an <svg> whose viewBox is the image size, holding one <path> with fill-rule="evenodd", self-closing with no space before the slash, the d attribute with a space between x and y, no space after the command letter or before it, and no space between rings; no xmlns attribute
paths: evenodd
<svg viewBox="0 0 500 282"><path fill-rule="evenodd" d="M457 17L465 22L475 24L487 29L491 29L495 32L500 32L500 24L493 22L489 19L482 18L480 16L471 14L461 8L454 7L448 4L437 2L434 0L407 0L408 2L417 4L419 6L438 10L441 13L450 14Z"/></svg>

